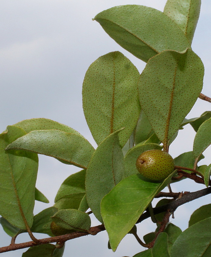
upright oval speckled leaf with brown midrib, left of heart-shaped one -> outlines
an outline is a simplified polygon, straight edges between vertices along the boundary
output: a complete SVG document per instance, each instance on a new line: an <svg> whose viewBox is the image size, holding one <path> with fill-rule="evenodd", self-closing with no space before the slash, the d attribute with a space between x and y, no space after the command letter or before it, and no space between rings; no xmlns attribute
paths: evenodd
<svg viewBox="0 0 211 257"><path fill-rule="evenodd" d="M99 145L120 128L120 145L128 141L140 114L137 68L120 52L94 61L83 82L83 111L89 129Z"/></svg>

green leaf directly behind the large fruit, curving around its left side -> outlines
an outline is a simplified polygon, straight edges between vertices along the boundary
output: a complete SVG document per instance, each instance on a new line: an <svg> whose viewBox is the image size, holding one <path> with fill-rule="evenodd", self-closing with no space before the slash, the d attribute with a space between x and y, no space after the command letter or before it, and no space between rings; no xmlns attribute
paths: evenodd
<svg viewBox="0 0 211 257"><path fill-rule="evenodd" d="M143 152L153 149L159 149L161 150L162 147L157 144L144 144L144 145L136 145L133 148L131 148L128 153L125 155L125 177L128 177L133 174L139 174L137 168L136 168L136 160L139 155L141 155ZM143 176L141 176L142 179L144 179Z"/></svg>

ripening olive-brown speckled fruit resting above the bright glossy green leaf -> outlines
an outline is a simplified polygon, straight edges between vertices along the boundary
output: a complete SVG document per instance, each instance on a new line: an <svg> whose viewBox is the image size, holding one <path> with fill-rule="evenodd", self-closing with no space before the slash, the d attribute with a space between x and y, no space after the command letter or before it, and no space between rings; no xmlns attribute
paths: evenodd
<svg viewBox="0 0 211 257"><path fill-rule="evenodd" d="M149 150L138 156L136 168L144 177L161 180L174 171L174 160L167 152Z"/></svg>

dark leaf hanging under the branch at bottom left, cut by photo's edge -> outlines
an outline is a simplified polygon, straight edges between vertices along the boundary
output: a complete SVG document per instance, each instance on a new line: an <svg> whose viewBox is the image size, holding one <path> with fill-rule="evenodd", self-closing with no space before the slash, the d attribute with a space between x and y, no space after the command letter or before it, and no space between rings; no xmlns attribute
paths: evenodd
<svg viewBox="0 0 211 257"><path fill-rule="evenodd" d="M26 252L22 254L22 257L62 257L63 252L64 246L58 249L55 245L46 244L30 247Z"/></svg>

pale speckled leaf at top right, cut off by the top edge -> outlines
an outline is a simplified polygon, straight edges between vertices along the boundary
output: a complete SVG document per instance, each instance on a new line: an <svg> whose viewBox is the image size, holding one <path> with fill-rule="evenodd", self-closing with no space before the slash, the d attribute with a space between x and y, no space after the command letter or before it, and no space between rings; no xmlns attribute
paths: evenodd
<svg viewBox="0 0 211 257"><path fill-rule="evenodd" d="M168 15L184 32L190 43L199 19L201 0L168 0L164 14Z"/></svg>

